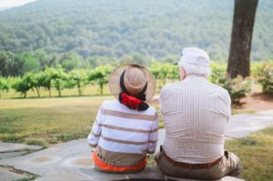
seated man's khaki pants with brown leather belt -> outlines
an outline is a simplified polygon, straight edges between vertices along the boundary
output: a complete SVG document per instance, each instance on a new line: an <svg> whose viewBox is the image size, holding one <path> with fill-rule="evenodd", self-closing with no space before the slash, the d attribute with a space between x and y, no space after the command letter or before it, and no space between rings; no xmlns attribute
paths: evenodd
<svg viewBox="0 0 273 181"><path fill-rule="evenodd" d="M163 152L157 152L155 155L157 165L163 174L167 176L195 178L195 179L218 179L223 176L239 176L242 165L238 156L225 151L225 155L221 157L221 161L210 168L187 169L171 164Z"/></svg>

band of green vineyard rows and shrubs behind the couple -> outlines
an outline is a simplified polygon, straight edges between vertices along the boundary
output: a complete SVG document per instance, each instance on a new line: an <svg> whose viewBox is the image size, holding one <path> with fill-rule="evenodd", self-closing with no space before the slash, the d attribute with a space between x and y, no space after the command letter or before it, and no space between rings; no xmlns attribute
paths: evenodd
<svg viewBox="0 0 273 181"><path fill-rule="evenodd" d="M209 81L225 87L233 102L239 102L241 98L247 96L252 84L261 85L264 93L273 93L272 62L253 63L251 65L251 77L245 79L240 76L235 79L227 78L226 67L226 64L212 63L212 74ZM77 69L67 72L62 67L46 67L44 71L30 72L23 76L0 76L0 97L9 95L10 92L17 92L24 98L28 97L30 92L32 93L31 97L45 96L45 94L41 95L41 92L46 92L48 97L52 97L53 91L57 92L59 97L63 96L64 92L66 92L66 96L76 96L72 94L75 90L77 96L104 95L108 76L113 68L113 65L101 65L94 69ZM157 92L163 85L178 80L177 65L156 62L150 65L148 69L157 79ZM94 88L98 92L91 91ZM86 89L88 91L85 91ZM71 92L70 95L69 92ZM5 97L16 98L14 96Z"/></svg>

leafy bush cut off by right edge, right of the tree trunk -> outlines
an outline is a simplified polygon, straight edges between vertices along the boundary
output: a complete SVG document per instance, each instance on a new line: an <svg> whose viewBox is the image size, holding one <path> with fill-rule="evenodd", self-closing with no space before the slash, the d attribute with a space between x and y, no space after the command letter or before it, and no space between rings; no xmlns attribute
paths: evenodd
<svg viewBox="0 0 273 181"><path fill-rule="evenodd" d="M273 94L273 62L263 64L257 74L263 93Z"/></svg>

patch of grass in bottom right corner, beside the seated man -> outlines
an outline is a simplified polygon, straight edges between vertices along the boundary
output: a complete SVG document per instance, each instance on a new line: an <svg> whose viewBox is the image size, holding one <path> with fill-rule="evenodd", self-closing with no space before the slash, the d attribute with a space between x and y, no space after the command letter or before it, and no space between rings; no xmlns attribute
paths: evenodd
<svg viewBox="0 0 273 181"><path fill-rule="evenodd" d="M226 149L239 156L248 181L273 180L273 126L245 138L228 140Z"/></svg>

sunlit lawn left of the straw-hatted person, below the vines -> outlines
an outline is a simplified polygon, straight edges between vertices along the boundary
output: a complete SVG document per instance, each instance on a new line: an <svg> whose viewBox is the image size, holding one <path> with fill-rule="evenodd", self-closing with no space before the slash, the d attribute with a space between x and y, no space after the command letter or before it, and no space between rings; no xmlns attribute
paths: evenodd
<svg viewBox="0 0 273 181"><path fill-rule="evenodd" d="M0 100L0 140L48 146L86 137L112 96Z"/></svg>

